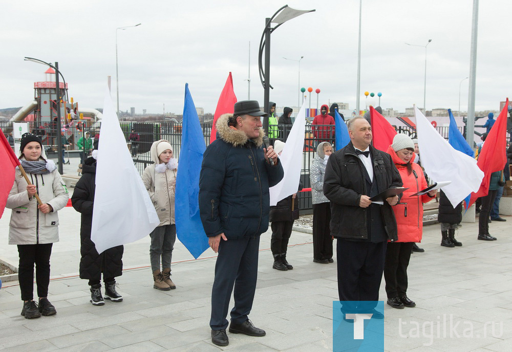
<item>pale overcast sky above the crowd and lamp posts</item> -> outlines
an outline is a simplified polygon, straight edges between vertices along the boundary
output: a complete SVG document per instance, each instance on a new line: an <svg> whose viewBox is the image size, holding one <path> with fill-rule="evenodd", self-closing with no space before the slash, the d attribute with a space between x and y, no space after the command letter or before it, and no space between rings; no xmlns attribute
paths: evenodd
<svg viewBox="0 0 512 352"><path fill-rule="evenodd" d="M239 100L247 99L250 41L250 97L263 105L258 46L265 17L280 6L315 8L272 34L270 100L297 105L298 63L301 86L321 89L319 102L356 104L358 0L279 3L231 1L2 2L0 108L25 105L33 82L46 68L25 56L58 61L69 95L81 107L102 107L106 77L116 99L116 28L119 30L119 101L122 111L182 113L184 86L197 107L213 113L228 73ZM426 108L458 109L459 83L469 76L472 0L363 0L361 109L364 92L382 92L383 108L403 111L423 105L427 50ZM498 109L512 82L510 1L480 1L476 110ZM467 110L468 80L461 85L461 110ZM368 103L377 103L368 99ZM316 94L312 95L312 107Z"/></svg>

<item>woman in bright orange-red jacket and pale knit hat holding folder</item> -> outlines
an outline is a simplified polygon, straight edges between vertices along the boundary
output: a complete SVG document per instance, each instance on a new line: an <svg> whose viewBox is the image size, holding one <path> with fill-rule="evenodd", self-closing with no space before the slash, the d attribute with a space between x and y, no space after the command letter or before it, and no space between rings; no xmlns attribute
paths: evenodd
<svg viewBox="0 0 512 352"><path fill-rule="evenodd" d="M388 242L384 278L388 304L393 308L414 307L416 303L407 297L407 267L414 243L421 241L423 232L423 204L436 196L437 191L412 196L427 187L423 171L415 158L414 143L407 135L398 134L387 150L402 178L403 192L400 203L393 207L398 227L398 240Z"/></svg>

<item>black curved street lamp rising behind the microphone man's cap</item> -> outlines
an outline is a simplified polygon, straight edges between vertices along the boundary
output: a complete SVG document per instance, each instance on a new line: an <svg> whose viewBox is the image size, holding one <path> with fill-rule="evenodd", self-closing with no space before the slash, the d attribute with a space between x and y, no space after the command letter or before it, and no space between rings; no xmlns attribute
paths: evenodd
<svg viewBox="0 0 512 352"><path fill-rule="evenodd" d="M284 24L286 21L300 16L302 14L313 12L315 10L295 10L289 7L288 5L283 6L278 11L276 11L272 17L265 18L265 30L261 36L260 40L260 51L258 55L258 67L260 73L260 81L263 85L264 89L264 104L263 109L265 112L268 112L268 104L270 99L270 89L272 86L270 85L270 34L275 31L279 26ZM277 25L272 28L271 23L276 23ZM265 49L265 70L263 69L263 50ZM263 128L265 131L268 131L268 116L263 119Z"/></svg>

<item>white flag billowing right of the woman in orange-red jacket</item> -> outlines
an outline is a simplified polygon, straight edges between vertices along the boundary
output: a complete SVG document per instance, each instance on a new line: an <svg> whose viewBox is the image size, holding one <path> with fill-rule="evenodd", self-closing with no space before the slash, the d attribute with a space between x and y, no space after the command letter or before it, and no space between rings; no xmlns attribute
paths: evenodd
<svg viewBox="0 0 512 352"><path fill-rule="evenodd" d="M477 192L483 172L477 161L454 149L415 106L421 166L432 181L452 181L442 188L455 208L471 192Z"/></svg>

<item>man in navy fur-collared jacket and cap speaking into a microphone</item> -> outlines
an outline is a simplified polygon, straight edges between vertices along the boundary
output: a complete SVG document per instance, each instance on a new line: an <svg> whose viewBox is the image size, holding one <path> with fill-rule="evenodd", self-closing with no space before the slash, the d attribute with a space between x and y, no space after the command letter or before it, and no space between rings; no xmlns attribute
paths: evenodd
<svg viewBox="0 0 512 352"><path fill-rule="evenodd" d="M229 332L265 336L248 319L258 277L260 235L268 229L269 187L283 178L272 146L263 148L255 100L234 104L234 113L216 122L218 138L204 152L199 178L199 212L208 243L216 253L211 290L211 341L227 346L226 320L234 285ZM270 162L272 160L272 163Z"/></svg>

